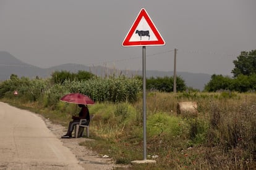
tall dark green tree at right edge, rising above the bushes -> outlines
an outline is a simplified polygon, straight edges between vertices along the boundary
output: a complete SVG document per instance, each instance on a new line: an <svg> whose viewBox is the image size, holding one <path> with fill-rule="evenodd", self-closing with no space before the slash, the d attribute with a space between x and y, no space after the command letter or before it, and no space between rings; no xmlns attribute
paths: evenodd
<svg viewBox="0 0 256 170"><path fill-rule="evenodd" d="M238 75L249 76L256 73L256 50L250 52L242 51L233 63L235 67L231 73L233 73L234 78Z"/></svg>

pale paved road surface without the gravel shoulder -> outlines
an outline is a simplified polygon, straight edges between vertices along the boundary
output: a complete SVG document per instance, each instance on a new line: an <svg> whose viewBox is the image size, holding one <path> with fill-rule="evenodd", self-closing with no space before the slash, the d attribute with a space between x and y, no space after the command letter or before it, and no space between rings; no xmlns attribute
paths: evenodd
<svg viewBox="0 0 256 170"><path fill-rule="evenodd" d="M0 102L0 169L83 169L35 113Z"/></svg>

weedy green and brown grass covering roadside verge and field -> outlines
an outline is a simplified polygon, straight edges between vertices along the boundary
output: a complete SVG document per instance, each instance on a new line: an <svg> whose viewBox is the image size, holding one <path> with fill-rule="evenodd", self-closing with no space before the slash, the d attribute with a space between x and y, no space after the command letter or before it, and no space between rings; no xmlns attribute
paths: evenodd
<svg viewBox="0 0 256 170"><path fill-rule="evenodd" d="M40 113L67 126L75 105L59 102L53 109L41 103L4 100ZM197 118L176 114L180 101L198 104ZM96 103L90 137L83 142L116 163L143 159L142 100L135 103ZM131 169L255 169L256 94L159 93L147 94L147 155L156 164Z"/></svg>

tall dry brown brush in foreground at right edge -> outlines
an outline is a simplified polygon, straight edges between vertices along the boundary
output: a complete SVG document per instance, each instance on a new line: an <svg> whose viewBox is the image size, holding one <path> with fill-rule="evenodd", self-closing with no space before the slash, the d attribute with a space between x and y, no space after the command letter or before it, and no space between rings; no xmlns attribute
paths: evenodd
<svg viewBox="0 0 256 170"><path fill-rule="evenodd" d="M256 158L256 105L255 103L242 103L234 110L213 106L210 119L208 141L229 152L234 148L247 151L245 158ZM219 107L219 108L218 108ZM250 154L248 154L250 153Z"/></svg>

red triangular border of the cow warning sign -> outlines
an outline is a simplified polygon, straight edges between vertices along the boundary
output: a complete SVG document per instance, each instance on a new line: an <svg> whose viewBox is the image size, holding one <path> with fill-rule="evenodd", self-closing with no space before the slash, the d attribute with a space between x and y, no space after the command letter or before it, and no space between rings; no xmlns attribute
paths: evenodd
<svg viewBox="0 0 256 170"><path fill-rule="evenodd" d="M130 38L132 37L132 34L134 34L135 29L140 23L140 20L142 20L142 17L145 18L148 25L150 26L151 30L155 34L158 41L130 41ZM147 11L145 9L141 9L139 15L134 21L134 24L130 28L129 32L126 35L126 38L124 38L124 41L122 42L122 46L164 46L165 42L161 36L161 34L158 32L156 26L152 22L150 16L148 15Z"/></svg>

